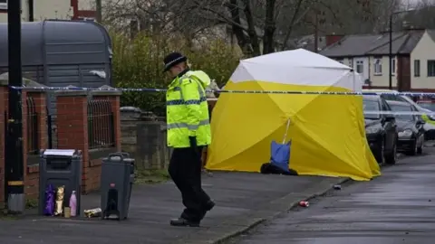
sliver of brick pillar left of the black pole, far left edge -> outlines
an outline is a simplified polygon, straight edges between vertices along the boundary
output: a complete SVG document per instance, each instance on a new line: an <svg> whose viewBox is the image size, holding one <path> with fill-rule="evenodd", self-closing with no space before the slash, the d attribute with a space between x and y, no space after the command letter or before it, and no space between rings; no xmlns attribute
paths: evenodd
<svg viewBox="0 0 435 244"><path fill-rule="evenodd" d="M7 111L8 89L0 84L0 203L5 202L5 111ZM0 209L3 204L0 204Z"/></svg>

